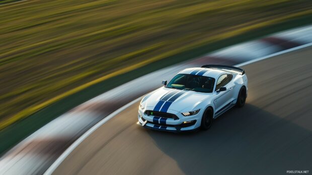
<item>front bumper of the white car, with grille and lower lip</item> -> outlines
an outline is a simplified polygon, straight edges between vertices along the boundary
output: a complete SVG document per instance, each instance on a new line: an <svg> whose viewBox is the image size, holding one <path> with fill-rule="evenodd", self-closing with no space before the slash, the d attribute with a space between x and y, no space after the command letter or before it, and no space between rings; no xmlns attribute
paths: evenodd
<svg viewBox="0 0 312 175"><path fill-rule="evenodd" d="M190 132L196 131L200 126L201 114L183 116L181 113L171 111L177 118L147 115L145 111L138 111L137 124L149 129L169 132ZM188 122L188 123L184 123Z"/></svg>

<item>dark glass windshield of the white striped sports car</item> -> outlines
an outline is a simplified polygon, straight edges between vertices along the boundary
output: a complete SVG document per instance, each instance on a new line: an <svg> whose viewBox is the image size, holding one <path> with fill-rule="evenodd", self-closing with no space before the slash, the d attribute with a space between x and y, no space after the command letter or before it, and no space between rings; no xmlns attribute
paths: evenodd
<svg viewBox="0 0 312 175"><path fill-rule="evenodd" d="M215 79L211 77L178 74L165 87L211 93L213 91L214 81Z"/></svg>

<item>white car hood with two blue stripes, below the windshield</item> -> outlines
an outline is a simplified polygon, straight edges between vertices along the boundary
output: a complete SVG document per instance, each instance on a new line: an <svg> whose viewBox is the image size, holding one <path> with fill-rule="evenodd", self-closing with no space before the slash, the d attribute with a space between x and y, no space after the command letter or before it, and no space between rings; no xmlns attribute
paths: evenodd
<svg viewBox="0 0 312 175"><path fill-rule="evenodd" d="M186 112L193 110L201 101L209 98L209 96L209 93L162 87L150 93L146 99L143 99L143 105L147 109L153 110L165 103L160 101L169 101L171 103L168 109Z"/></svg>

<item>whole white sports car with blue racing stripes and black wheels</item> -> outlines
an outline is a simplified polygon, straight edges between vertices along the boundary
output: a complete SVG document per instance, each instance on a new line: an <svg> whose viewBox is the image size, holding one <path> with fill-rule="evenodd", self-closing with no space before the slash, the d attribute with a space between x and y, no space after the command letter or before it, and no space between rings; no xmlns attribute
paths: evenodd
<svg viewBox="0 0 312 175"><path fill-rule="evenodd" d="M244 106L248 92L245 71L224 65L188 68L162 83L164 87L141 100L140 126L172 132L207 130L223 112Z"/></svg>

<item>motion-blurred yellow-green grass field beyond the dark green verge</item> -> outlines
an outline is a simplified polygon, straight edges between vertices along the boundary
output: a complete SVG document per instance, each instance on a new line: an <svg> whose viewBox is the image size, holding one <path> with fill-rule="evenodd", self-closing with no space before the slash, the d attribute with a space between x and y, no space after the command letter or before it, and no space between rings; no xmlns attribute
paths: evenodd
<svg viewBox="0 0 312 175"><path fill-rule="evenodd" d="M312 1L23 1L0 6L0 129L113 76L311 15Z"/></svg>

